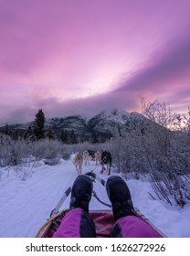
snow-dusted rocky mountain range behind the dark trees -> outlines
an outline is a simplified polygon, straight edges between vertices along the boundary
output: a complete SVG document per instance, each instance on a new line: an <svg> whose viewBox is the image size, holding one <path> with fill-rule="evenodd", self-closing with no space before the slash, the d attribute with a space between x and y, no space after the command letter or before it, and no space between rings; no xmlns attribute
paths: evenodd
<svg viewBox="0 0 190 256"><path fill-rule="evenodd" d="M117 109L105 110L88 120L81 115L72 115L61 118L51 118L46 120L46 126L51 126L58 135L62 130L74 131L81 139L88 139L93 135L99 138L110 138L122 131L129 131L142 120L142 115L138 112L124 112ZM9 128L19 130L24 133L31 123L14 124ZM4 127L1 127L4 129Z"/></svg>

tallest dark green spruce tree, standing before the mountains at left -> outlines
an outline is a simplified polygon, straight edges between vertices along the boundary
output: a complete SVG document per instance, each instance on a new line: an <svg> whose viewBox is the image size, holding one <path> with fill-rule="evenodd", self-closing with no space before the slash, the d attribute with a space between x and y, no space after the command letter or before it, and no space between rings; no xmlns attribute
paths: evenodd
<svg viewBox="0 0 190 256"><path fill-rule="evenodd" d="M45 137L45 121L46 118L44 112L41 109L38 110L34 122L34 134L37 140L44 139Z"/></svg>

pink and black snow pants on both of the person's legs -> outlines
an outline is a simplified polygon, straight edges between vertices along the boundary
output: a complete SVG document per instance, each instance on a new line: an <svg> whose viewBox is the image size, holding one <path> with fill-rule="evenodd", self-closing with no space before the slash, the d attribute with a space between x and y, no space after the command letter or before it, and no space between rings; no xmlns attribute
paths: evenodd
<svg viewBox="0 0 190 256"><path fill-rule="evenodd" d="M95 238L96 230L90 215L81 208L70 210L62 219L54 238ZM111 229L114 238L160 238L162 237L145 220L136 216L118 219Z"/></svg>

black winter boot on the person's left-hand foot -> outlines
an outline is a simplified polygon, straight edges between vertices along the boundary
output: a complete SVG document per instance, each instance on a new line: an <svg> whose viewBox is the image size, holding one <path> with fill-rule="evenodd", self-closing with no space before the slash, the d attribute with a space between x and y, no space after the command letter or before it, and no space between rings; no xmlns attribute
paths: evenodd
<svg viewBox="0 0 190 256"><path fill-rule="evenodd" d="M82 208L89 213L93 183L89 176L80 175L73 183L69 208Z"/></svg>

